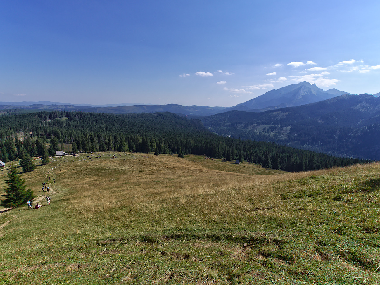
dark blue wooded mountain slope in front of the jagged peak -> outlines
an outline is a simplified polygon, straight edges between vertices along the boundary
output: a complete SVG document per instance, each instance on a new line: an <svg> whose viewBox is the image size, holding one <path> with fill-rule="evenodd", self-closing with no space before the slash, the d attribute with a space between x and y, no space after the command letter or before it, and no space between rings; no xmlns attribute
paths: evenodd
<svg viewBox="0 0 380 285"><path fill-rule="evenodd" d="M203 117L202 122L219 135L380 160L380 97L369 94L260 113L224 112Z"/></svg>

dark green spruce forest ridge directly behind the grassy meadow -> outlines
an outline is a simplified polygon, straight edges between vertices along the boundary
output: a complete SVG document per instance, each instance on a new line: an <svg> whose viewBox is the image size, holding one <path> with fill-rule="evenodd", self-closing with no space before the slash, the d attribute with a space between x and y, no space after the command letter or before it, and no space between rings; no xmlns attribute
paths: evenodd
<svg viewBox="0 0 380 285"><path fill-rule="evenodd" d="M25 135L23 142L17 133ZM159 154L208 155L226 160L259 163L285 171L304 171L364 163L271 142L240 140L215 135L198 119L173 113L103 114L91 112L3 112L0 116L0 159L4 162L43 156L72 144L72 152L117 150Z"/></svg>

